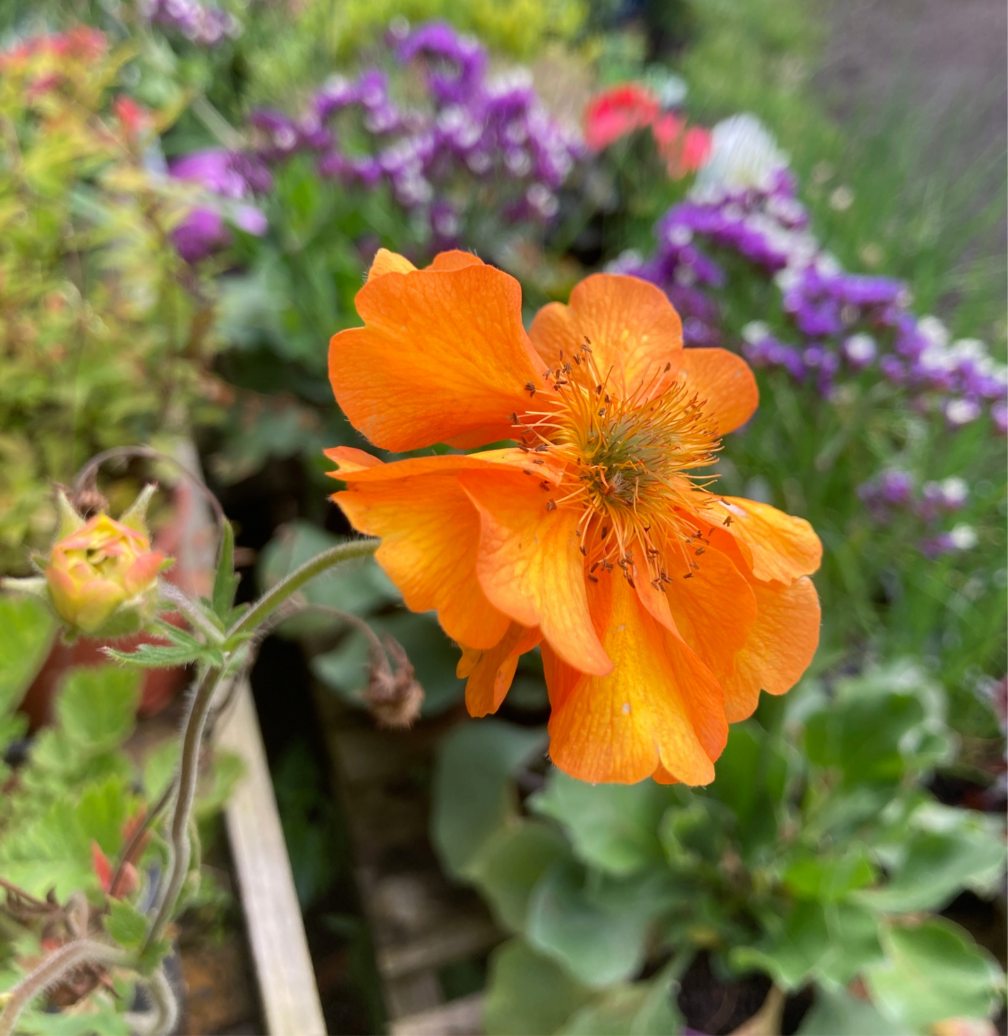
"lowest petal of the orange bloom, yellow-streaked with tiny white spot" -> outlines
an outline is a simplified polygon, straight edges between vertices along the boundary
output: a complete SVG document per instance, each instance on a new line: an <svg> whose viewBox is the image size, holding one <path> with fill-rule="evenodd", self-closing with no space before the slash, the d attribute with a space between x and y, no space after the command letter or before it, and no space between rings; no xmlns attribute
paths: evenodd
<svg viewBox="0 0 1008 1036"><path fill-rule="evenodd" d="M602 642L612 672L575 677L543 646L553 762L586 781L630 784L664 768L685 783L709 783L727 740L721 688L623 578L609 578L612 614Z"/></svg>

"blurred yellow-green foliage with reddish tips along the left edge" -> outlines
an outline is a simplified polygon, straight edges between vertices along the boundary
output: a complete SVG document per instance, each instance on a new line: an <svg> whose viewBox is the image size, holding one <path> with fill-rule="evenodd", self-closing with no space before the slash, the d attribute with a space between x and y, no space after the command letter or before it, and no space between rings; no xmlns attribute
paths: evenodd
<svg viewBox="0 0 1008 1036"><path fill-rule="evenodd" d="M144 154L100 33L0 55L0 572L50 531L50 480L188 425L210 304L171 243L186 190Z"/></svg>

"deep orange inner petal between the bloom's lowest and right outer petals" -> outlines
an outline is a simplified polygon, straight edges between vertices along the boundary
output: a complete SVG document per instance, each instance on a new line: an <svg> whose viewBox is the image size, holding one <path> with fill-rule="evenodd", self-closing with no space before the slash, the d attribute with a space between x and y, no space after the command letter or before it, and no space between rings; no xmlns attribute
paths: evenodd
<svg viewBox="0 0 1008 1036"><path fill-rule="evenodd" d="M756 621L756 598L720 551L709 549L696 562L692 577L673 578L665 596L680 636L723 685Z"/></svg>

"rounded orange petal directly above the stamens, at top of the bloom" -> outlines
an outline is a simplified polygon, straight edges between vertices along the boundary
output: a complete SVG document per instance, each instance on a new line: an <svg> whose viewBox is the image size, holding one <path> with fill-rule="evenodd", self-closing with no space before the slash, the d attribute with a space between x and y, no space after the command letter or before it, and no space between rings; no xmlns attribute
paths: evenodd
<svg viewBox="0 0 1008 1036"><path fill-rule="evenodd" d="M683 322L660 288L617 274L594 274L571 292L569 306L550 303L532 321L536 351L551 367L560 350L570 356L585 337L609 384L624 398L655 379L652 394L680 368ZM669 378L665 368L670 365Z"/></svg>

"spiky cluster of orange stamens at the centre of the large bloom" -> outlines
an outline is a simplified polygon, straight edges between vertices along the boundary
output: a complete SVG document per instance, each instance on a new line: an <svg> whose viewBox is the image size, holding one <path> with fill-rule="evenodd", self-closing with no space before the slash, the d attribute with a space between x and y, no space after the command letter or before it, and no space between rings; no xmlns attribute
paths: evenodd
<svg viewBox="0 0 1008 1036"><path fill-rule="evenodd" d="M663 557L670 553L687 572L696 567L686 549L696 537L694 493L713 481L698 469L715 462L720 441L704 400L679 379L659 387L667 373L666 366L622 398L609 391L612 372L599 370L585 339L544 373L555 396L520 426L523 449L566 462L547 507L581 509L578 535L592 572L612 571L614 560L633 582L645 562L649 579L660 585L668 581ZM634 557L635 543L646 559Z"/></svg>

